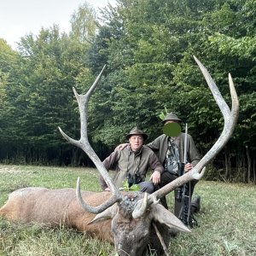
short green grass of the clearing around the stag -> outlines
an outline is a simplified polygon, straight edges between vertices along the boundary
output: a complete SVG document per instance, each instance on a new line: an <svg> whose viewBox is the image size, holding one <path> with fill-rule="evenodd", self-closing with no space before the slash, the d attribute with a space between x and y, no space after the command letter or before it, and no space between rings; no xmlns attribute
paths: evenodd
<svg viewBox="0 0 256 256"><path fill-rule="evenodd" d="M0 205L9 192L20 187L74 188L81 177L84 190L100 191L98 174L91 168L0 165ZM172 193L173 194L173 193ZM170 210L173 195L167 196ZM169 246L172 256L256 255L256 188L253 184L201 181L195 187L201 195L200 224L190 234L179 234ZM112 256L107 242L60 226L11 224L0 219L0 256L93 255Z"/></svg>

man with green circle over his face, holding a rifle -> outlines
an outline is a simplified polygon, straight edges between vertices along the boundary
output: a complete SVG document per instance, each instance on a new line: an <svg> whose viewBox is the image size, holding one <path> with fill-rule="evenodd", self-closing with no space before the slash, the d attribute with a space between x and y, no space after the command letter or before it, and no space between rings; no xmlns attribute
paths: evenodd
<svg viewBox="0 0 256 256"><path fill-rule="evenodd" d="M167 113L165 119L162 123L164 125L177 123L181 124L182 120L177 117L175 113ZM178 168L181 163L184 163L184 144L185 144L185 134L183 132L179 133L176 137L170 137L166 134L162 134L157 137L152 143L148 143L148 148L151 148L155 154L159 157L160 163L164 166L165 172L161 174L160 184L156 186L157 188L162 188L167 183L172 182L178 177ZM187 135L187 160L184 165L184 172L189 172L201 159L200 154L198 154L195 148L195 143L193 138ZM193 191L195 189L195 183L197 180L190 182L189 194L190 199L192 198ZM166 197L162 198L161 203L164 207L167 207ZM200 210L200 197L197 196L195 201L191 202L190 212L198 212Z"/></svg>

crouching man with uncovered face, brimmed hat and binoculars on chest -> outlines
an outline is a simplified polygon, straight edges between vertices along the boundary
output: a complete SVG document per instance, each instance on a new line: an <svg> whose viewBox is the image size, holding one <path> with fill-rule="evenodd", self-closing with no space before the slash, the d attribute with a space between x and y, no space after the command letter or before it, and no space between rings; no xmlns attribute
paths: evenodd
<svg viewBox="0 0 256 256"><path fill-rule="evenodd" d="M144 141L148 138L142 130L134 127L126 135L129 145L123 150L115 150L104 161L103 165L109 170L116 171L113 182L120 188L123 181L127 180L129 186L138 184L141 191L150 193L154 192L154 185L160 183L160 175L164 172L154 152L143 146ZM145 181L148 169L153 171L149 182ZM107 183L100 177L100 183L103 190L109 190Z"/></svg>

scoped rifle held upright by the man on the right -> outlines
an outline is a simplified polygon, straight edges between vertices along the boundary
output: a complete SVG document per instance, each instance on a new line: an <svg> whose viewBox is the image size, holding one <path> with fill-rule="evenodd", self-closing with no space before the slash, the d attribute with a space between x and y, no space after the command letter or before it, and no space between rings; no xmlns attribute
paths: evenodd
<svg viewBox="0 0 256 256"><path fill-rule="evenodd" d="M187 163L187 143L188 143L188 124L185 128L184 155L183 163L180 163L178 168L178 177L184 174L184 166ZM190 182L183 184L174 191L174 214L183 224L189 225L191 228L197 226L197 221L190 212L191 197L190 197Z"/></svg>

